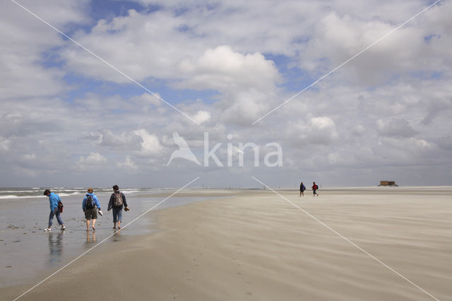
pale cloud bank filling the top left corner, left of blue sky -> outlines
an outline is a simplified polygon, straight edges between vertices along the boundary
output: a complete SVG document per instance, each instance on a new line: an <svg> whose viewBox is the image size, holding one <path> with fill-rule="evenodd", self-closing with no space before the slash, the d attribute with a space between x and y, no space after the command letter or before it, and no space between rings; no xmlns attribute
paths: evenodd
<svg viewBox="0 0 452 301"><path fill-rule="evenodd" d="M40 5L37 1L20 1L49 23L64 29L69 23L88 20L84 9L87 1L52 1ZM69 90L63 81L66 72L54 61L44 66L45 57L66 44L61 35L49 28L12 1L4 1L0 9L0 74L1 99L52 96Z"/></svg>

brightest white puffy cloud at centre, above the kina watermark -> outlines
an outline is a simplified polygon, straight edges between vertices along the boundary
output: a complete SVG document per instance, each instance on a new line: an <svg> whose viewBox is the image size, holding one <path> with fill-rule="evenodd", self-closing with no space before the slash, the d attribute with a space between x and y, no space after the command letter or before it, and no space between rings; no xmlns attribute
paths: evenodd
<svg viewBox="0 0 452 301"><path fill-rule="evenodd" d="M261 53L241 54L229 46L207 49L196 60L185 59L179 68L186 78L179 88L218 90L225 122L251 124L269 109L280 81L273 61Z"/></svg>

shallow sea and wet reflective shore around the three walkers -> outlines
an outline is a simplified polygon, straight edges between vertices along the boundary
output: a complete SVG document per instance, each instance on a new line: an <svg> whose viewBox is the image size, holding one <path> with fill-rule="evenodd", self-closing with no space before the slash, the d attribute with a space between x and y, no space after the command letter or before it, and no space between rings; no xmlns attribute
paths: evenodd
<svg viewBox="0 0 452 301"><path fill-rule="evenodd" d="M64 204L61 218L66 230L60 230L54 218L52 231L44 232L49 220L49 198L45 189L58 194ZM157 231L155 211L204 201L209 197L167 199L174 188L125 188L130 211L122 213L121 231L113 229L112 213L107 212L112 188L95 187L104 216L98 216L96 230L86 232L82 210L86 188L81 187L9 187L0 188L0 287L32 284L37 276L50 274L76 259L97 244L130 240L133 235Z"/></svg>

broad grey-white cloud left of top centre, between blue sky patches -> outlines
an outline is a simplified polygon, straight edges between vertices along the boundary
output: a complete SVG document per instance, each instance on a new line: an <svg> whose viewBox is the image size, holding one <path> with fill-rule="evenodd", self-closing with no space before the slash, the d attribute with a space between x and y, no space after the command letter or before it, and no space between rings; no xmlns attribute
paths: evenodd
<svg viewBox="0 0 452 301"><path fill-rule="evenodd" d="M186 51L196 52L197 49L184 47L184 42L190 39L179 33L180 25L169 12L148 14L129 10L127 16L98 20L90 33L79 32L75 40L137 81L150 76L169 78L173 75L174 62ZM114 83L131 82L77 46L71 45L61 55L71 70L84 76Z"/></svg>

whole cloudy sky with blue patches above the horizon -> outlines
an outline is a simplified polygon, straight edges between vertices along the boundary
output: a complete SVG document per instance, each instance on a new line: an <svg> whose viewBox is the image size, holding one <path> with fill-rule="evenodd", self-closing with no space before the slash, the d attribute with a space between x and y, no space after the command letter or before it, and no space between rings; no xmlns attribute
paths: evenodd
<svg viewBox="0 0 452 301"><path fill-rule="evenodd" d="M451 185L433 3L3 0L0 186Z"/></svg>

